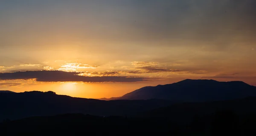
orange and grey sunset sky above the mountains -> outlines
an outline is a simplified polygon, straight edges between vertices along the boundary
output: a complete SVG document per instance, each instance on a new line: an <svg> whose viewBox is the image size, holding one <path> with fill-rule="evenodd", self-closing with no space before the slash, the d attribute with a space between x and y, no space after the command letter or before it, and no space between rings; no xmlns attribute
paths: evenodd
<svg viewBox="0 0 256 136"><path fill-rule="evenodd" d="M255 0L1 0L0 90L119 97L184 79L256 86Z"/></svg>

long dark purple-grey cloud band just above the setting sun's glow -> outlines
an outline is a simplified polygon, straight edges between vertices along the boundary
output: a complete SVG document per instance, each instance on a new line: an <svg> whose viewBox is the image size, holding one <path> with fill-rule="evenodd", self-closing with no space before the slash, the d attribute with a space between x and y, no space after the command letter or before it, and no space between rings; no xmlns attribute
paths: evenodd
<svg viewBox="0 0 256 136"><path fill-rule="evenodd" d="M81 72L64 72L64 71L23 71L13 73L0 73L0 80L15 79L36 79L41 82L138 82L148 80L140 77L127 76L80 76Z"/></svg>

